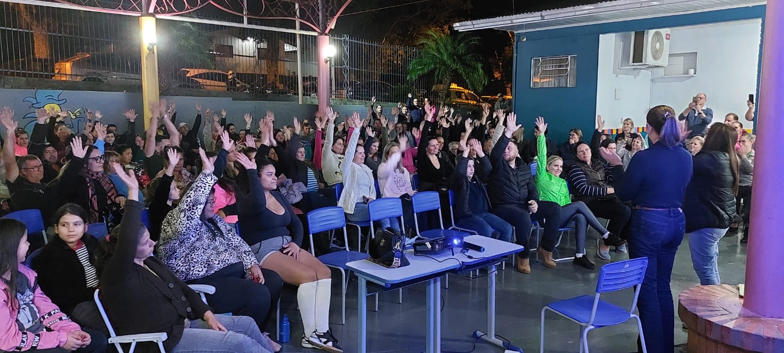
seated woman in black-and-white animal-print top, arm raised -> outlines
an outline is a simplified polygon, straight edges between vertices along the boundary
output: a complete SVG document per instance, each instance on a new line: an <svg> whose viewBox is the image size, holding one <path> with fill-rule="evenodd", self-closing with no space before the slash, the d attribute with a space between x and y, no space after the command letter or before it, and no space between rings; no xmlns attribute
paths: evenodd
<svg viewBox="0 0 784 353"><path fill-rule="evenodd" d="M223 131L223 137L215 166L200 149L204 170L163 220L158 258L185 283L214 286L215 294L206 297L216 313L249 316L263 331L283 283L275 272L263 272L234 227L213 213L212 186L216 175L223 175L227 148L233 143L228 131ZM279 345L269 344L280 350Z"/></svg>

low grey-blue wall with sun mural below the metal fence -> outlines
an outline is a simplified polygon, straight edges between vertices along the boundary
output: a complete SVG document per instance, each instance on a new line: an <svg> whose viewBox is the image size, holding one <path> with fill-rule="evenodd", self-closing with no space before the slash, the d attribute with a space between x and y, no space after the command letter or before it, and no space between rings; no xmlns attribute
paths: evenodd
<svg viewBox="0 0 784 353"><path fill-rule="evenodd" d="M142 98L137 92L94 92L94 91L66 91L52 89L8 89L0 88L0 106L10 106L14 110L14 119L20 121L20 126L27 131L32 131L35 124L35 110L40 108L54 108L56 111L67 110L73 118L69 117L65 124L72 131L82 131L85 128L87 110L100 110L103 113L104 124L117 124L120 131L125 127L125 110L135 109L141 117ZM291 124L294 117L312 121L318 106L299 105L296 102L267 102L234 100L227 97L190 97L190 96L162 96L176 103L177 121L192 124L196 117L196 102L201 103L202 110L220 112L227 111L227 122L234 123L238 128L245 127L242 116L250 113L255 121L264 116L267 110L275 113L275 125L281 127ZM367 107L358 105L333 105L341 117L356 112L361 117L367 115ZM387 108L388 109L388 108ZM256 123L254 123L256 124ZM136 133L143 133L143 124L137 124ZM257 128L258 125L253 126Z"/></svg>

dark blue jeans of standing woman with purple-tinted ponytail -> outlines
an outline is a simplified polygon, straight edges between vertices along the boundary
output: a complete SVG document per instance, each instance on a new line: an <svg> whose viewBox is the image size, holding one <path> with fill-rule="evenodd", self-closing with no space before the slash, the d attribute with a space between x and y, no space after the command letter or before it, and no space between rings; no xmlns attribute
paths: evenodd
<svg viewBox="0 0 784 353"><path fill-rule="evenodd" d="M686 218L677 208L632 212L630 258L648 258L637 299L648 352L673 353L675 349L675 306L670 277L685 230Z"/></svg>

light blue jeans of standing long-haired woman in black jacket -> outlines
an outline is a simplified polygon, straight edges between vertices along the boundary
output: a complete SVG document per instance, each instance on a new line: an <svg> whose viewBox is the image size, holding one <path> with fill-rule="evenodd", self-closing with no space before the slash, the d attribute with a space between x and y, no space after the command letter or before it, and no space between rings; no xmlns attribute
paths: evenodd
<svg viewBox="0 0 784 353"><path fill-rule="evenodd" d="M719 279L719 240L728 228L703 228L689 233L688 247L691 250L691 265L699 277L699 284L709 286L720 284Z"/></svg>

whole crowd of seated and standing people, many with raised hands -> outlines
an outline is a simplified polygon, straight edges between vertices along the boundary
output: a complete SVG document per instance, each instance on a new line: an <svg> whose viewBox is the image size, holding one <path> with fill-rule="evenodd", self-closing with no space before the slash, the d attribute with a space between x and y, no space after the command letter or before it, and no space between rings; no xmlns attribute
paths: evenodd
<svg viewBox="0 0 784 353"><path fill-rule="evenodd" d="M748 105L746 120L753 120ZM434 191L443 219L522 245L514 256L524 274L532 272L531 251L556 267L564 228L574 230L573 263L583 268L596 267L589 227L598 234L600 261L611 260L612 249L648 258L638 302L645 343L648 351L673 351L675 252L691 233L700 283L720 283L718 241L740 222L743 240L748 236L754 135L734 113L710 124L702 93L682 113L652 108L645 134L627 118L608 135L598 116L590 142L575 128L556 144L544 117L525 141L506 108L483 105L463 115L408 95L388 116L373 99L364 118L352 113L339 121L328 108L276 129L267 111L258 121L246 113L238 130L226 110L202 115L197 103L191 126L177 120L173 102L162 101L151 107L143 135L135 133L134 110L125 113L121 134L97 111L74 133L64 124L67 113L42 109L28 139L6 107L5 207L40 210L53 236L45 246L31 240L43 247L27 268L20 262L33 249L24 225L0 220L0 325L9 333L0 350L103 351L107 330L93 301L100 288L118 334L165 332L170 352L279 351L265 331L288 283L297 287L302 346L341 353L328 322L331 273L313 255L331 251L332 239L320 235L308 249L307 214L339 206L349 221L366 222L369 202L400 198L405 222L379 225L412 237L415 217L422 229L440 226L437 211L412 211L412 195ZM663 165L670 172L661 173ZM90 234L95 223L110 234ZM543 229L538 243L530 239L533 227ZM347 245L362 250L361 242ZM194 284L216 291L205 302L188 286Z"/></svg>

